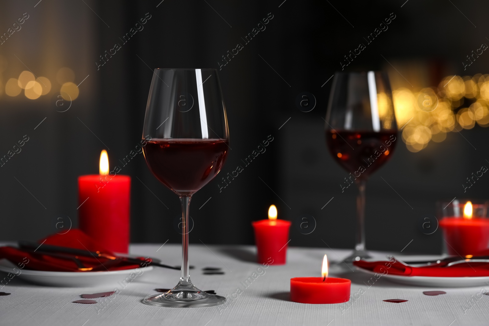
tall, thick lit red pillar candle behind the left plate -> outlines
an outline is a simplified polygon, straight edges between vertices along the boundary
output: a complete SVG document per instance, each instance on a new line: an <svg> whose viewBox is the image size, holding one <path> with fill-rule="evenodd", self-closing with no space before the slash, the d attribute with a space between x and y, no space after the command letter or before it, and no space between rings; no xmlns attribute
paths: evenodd
<svg viewBox="0 0 489 326"><path fill-rule="evenodd" d="M103 248L116 253L129 251L131 177L109 174L109 160L100 154L100 174L78 177L80 229Z"/></svg>

